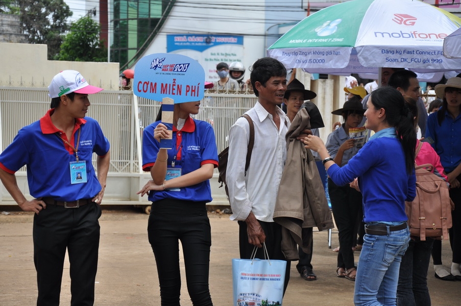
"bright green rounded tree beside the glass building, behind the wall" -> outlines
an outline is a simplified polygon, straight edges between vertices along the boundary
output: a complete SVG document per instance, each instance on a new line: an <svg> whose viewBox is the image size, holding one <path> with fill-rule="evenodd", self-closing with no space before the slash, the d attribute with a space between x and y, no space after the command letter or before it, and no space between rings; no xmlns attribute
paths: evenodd
<svg viewBox="0 0 461 306"><path fill-rule="evenodd" d="M90 17L82 17L70 25L57 60L106 62L107 48L100 39L101 26Z"/></svg>

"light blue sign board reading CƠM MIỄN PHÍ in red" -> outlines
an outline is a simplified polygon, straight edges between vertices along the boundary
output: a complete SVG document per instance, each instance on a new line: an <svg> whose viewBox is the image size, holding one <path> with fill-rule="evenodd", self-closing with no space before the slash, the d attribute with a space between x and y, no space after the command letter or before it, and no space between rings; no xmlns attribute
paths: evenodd
<svg viewBox="0 0 461 306"><path fill-rule="evenodd" d="M200 101L205 89L202 65L180 54L155 53L141 58L134 68L135 95L156 101L165 97L175 103Z"/></svg>

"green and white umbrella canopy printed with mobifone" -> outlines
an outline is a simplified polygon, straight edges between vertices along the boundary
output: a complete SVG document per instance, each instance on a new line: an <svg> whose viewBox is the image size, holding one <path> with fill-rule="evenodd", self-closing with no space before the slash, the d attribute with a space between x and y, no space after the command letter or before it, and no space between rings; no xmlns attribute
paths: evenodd
<svg viewBox="0 0 461 306"><path fill-rule="evenodd" d="M352 0L304 18L268 55L311 73L348 66L349 73L354 66L362 73L364 67L457 70L461 60L443 56L443 40L460 26L461 18L419 0ZM354 49L358 61L351 65Z"/></svg>

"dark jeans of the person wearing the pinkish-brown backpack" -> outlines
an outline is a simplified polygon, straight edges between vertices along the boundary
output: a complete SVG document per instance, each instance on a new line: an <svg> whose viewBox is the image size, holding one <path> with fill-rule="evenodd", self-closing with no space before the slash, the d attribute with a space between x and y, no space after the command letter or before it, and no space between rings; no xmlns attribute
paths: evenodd
<svg viewBox="0 0 461 306"><path fill-rule="evenodd" d="M424 241L419 238L410 240L400 264L398 306L431 305L427 289L427 269L433 242L434 240L429 237Z"/></svg>

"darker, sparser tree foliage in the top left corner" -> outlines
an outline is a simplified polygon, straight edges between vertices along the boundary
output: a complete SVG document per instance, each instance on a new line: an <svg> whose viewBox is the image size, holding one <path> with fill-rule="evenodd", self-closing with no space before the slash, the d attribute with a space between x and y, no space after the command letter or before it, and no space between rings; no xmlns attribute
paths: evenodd
<svg viewBox="0 0 461 306"><path fill-rule="evenodd" d="M64 0L0 0L0 10L20 16L21 32L29 43L48 45L48 59L53 59L68 30L66 19L72 16Z"/></svg>

